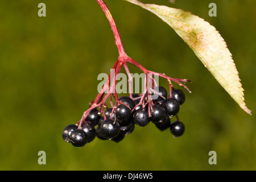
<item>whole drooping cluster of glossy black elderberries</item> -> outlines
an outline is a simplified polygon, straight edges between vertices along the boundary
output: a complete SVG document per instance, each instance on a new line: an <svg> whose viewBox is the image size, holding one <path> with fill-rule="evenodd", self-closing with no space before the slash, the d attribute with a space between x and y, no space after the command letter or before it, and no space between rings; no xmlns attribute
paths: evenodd
<svg viewBox="0 0 256 182"><path fill-rule="evenodd" d="M82 147L96 137L120 142L125 135L133 132L135 124L144 127L150 122L161 131L170 128L175 138L180 137L184 133L184 124L179 119L171 123L170 118L179 112L185 95L179 89L172 89L169 95L163 86L157 86L157 89L158 97L148 101L148 95L144 94L143 104L143 94L133 94L133 98L120 97L116 107L109 107L103 112L97 107L93 108L80 128L78 125L68 125L64 128L63 139L75 147ZM153 92L150 93L152 94Z"/></svg>

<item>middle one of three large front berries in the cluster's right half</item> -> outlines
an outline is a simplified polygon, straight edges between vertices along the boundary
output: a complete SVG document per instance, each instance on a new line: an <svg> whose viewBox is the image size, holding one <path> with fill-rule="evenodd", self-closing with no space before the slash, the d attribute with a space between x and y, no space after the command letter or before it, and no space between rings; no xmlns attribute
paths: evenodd
<svg viewBox="0 0 256 182"><path fill-rule="evenodd" d="M153 123L160 123L166 118L166 110L160 104L154 104L150 108L150 121Z"/></svg>

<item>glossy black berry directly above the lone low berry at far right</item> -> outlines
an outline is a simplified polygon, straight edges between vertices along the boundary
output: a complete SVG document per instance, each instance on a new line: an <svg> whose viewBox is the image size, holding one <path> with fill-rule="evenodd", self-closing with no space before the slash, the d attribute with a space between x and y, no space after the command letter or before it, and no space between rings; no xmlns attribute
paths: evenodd
<svg viewBox="0 0 256 182"><path fill-rule="evenodd" d="M169 117L173 117L177 113L179 113L180 105L179 102L175 98L167 98L163 102L164 109L166 109L166 114Z"/></svg>

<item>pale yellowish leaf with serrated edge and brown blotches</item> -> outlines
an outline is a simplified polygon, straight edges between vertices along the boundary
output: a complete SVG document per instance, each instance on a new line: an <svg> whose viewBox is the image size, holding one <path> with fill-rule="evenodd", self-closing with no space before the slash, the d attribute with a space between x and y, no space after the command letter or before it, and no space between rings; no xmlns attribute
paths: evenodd
<svg viewBox="0 0 256 182"><path fill-rule="evenodd" d="M244 102L244 90L232 54L216 28L199 16L181 9L143 4L137 0L125 1L151 11L172 27L195 52L226 92L246 113L251 114Z"/></svg>

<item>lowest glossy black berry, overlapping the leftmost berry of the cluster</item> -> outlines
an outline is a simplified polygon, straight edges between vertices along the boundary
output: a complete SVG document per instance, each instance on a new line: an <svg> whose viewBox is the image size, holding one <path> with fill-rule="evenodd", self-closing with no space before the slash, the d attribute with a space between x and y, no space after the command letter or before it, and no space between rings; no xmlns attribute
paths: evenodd
<svg viewBox="0 0 256 182"><path fill-rule="evenodd" d="M70 142L75 147L82 147L88 141L87 134L84 130L76 129L72 131L70 136Z"/></svg>

